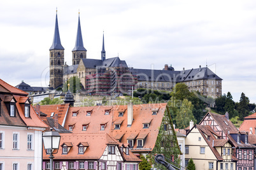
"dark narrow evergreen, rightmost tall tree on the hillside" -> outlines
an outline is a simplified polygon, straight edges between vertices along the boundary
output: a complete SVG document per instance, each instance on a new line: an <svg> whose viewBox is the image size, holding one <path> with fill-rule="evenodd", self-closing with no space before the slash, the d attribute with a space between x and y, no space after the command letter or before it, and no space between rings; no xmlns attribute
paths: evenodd
<svg viewBox="0 0 256 170"><path fill-rule="evenodd" d="M243 119L250 114L249 105L250 100L245 96L245 93L241 93L241 97L238 104L238 113L239 119L243 121Z"/></svg>

